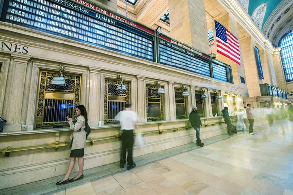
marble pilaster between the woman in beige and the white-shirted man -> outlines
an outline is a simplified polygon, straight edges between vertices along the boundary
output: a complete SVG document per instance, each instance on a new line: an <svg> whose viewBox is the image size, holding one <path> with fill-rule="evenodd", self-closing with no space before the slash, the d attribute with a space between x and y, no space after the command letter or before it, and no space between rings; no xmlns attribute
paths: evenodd
<svg viewBox="0 0 293 195"><path fill-rule="evenodd" d="M89 81L89 101L88 101L88 125L98 126L99 125L99 112L100 109L100 69L89 67L90 81ZM102 119L101 119L102 120Z"/></svg>

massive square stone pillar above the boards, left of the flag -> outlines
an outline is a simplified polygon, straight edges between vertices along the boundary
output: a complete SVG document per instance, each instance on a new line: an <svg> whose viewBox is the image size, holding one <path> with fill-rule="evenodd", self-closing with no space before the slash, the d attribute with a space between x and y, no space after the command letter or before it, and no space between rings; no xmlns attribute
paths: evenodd
<svg viewBox="0 0 293 195"><path fill-rule="evenodd" d="M209 53L204 0L169 0L170 35L204 53Z"/></svg>

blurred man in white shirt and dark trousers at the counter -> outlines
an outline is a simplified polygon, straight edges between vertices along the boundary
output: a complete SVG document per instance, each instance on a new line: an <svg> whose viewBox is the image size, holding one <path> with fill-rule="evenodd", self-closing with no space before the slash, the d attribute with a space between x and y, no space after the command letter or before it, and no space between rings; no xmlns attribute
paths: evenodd
<svg viewBox="0 0 293 195"><path fill-rule="evenodd" d="M115 117L120 121L120 126L122 130L122 149L121 149L121 155L120 155L120 168L124 168L124 165L126 163L126 150L128 151L127 155L127 169L132 169L136 166L135 163L133 163L132 159L132 151L133 151L133 130L135 129L135 126L137 126L138 116L136 112L131 111L131 104L126 104L126 107L124 111L121 111L117 114Z"/></svg>

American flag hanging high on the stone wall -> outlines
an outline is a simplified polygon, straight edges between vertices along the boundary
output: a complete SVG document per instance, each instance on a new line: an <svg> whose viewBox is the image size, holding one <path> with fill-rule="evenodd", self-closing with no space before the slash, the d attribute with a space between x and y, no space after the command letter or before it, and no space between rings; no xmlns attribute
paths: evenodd
<svg viewBox="0 0 293 195"><path fill-rule="evenodd" d="M224 26L215 20L217 52L230 58L237 64L240 62L239 40L230 33Z"/></svg>

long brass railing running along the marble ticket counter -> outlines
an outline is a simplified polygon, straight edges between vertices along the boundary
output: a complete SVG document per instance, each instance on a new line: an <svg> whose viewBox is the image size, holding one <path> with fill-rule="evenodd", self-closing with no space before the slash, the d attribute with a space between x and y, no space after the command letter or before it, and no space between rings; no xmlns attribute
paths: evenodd
<svg viewBox="0 0 293 195"><path fill-rule="evenodd" d="M203 124L203 126L208 127L208 126L213 126L216 124L222 124L224 122L217 122L217 123L209 123L209 124ZM167 131L173 131L176 132L178 130L181 129L185 129L188 130L190 127L188 126L184 126L184 127L179 127L179 128L171 128L171 129L158 129L158 130L151 130L151 131L142 131L141 135L142 137L144 137L146 134L150 134L150 133L159 133L162 134L163 132L167 132ZM137 135L137 133L134 133L135 135ZM89 142L90 145L93 145L95 142L97 141L102 141L102 140L108 140L108 139L116 139L119 138L121 136L121 134L115 134L113 136L108 136L108 137L100 137L100 138L90 138L87 139L86 142ZM6 149L2 149L0 150L0 152L2 154L5 155L5 157L9 157L10 152L19 152L19 151L27 151L27 150L35 150L35 149L45 149L45 148L55 148L55 150L58 149L58 147L63 147L66 145L69 145L69 142L55 142L55 143L50 143L50 144L43 144L43 145L36 145L36 146L27 146L27 147L19 147L19 148L11 148L10 146L7 146Z"/></svg>

